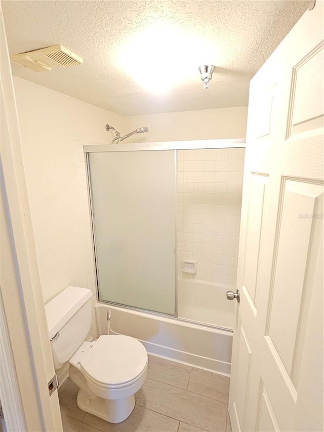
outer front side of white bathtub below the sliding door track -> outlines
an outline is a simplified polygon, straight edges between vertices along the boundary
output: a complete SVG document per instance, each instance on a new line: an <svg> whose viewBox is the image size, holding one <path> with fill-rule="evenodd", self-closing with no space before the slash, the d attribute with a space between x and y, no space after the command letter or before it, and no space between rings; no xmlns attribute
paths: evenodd
<svg viewBox="0 0 324 432"><path fill-rule="evenodd" d="M99 335L107 334L109 308L112 330L139 339L150 354L229 376L232 351L230 330L97 303L95 313Z"/></svg>

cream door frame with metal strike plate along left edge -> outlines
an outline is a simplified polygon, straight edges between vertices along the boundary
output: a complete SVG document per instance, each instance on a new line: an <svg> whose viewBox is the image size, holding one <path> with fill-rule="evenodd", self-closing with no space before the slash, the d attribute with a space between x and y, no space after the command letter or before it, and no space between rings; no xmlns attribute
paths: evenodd
<svg viewBox="0 0 324 432"><path fill-rule="evenodd" d="M0 5L0 96L1 96L1 286L3 323L2 350L13 368L4 370L2 397L6 426L24 420L18 430L62 430L57 391L49 395L55 379L45 307L39 279L31 215L24 174L12 72ZM5 257L5 259L4 259ZM9 391L9 387L11 391ZM16 419L8 401L14 397ZM6 403L4 403L6 400ZM23 415L23 419L21 418ZM17 430L10 427L9 430Z"/></svg>

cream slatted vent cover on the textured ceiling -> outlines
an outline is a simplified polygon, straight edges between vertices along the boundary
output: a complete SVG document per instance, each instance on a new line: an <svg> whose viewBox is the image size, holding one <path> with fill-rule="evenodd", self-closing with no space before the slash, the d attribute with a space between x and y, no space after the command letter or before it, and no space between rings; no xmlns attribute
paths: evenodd
<svg viewBox="0 0 324 432"><path fill-rule="evenodd" d="M83 59L62 45L10 56L10 60L35 72L46 72L53 67L70 67L82 64Z"/></svg>

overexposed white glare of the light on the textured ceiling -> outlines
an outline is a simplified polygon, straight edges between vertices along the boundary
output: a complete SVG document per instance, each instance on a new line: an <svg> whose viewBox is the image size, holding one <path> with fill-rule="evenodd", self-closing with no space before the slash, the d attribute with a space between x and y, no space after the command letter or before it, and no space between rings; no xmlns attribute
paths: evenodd
<svg viewBox="0 0 324 432"><path fill-rule="evenodd" d="M194 81L196 65L211 58L214 49L199 35L156 23L133 35L119 51L118 66L154 94Z"/></svg>

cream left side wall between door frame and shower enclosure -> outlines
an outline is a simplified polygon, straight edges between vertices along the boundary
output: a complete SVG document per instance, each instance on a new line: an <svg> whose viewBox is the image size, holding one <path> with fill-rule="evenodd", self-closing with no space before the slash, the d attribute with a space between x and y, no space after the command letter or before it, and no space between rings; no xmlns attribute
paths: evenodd
<svg viewBox="0 0 324 432"><path fill-rule="evenodd" d="M87 286L74 141L106 144L125 118L14 76L44 301Z"/></svg>

